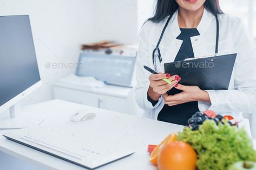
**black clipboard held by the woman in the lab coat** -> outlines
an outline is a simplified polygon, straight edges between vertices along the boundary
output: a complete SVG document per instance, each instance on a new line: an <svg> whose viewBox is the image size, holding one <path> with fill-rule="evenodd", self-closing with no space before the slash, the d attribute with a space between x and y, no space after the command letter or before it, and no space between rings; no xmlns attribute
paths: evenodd
<svg viewBox="0 0 256 170"><path fill-rule="evenodd" d="M165 63L165 73L179 75L180 84L202 90L227 90L237 53Z"/></svg>

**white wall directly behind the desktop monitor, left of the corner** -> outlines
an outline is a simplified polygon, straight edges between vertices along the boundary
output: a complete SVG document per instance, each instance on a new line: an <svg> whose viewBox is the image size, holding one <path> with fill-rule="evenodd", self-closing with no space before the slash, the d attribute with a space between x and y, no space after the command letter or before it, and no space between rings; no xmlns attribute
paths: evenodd
<svg viewBox="0 0 256 170"><path fill-rule="evenodd" d="M0 15L30 15L36 54L44 85L26 104L52 98L51 83L73 69L52 69L45 64L76 62L80 45L93 34L92 0L3 0Z"/></svg>

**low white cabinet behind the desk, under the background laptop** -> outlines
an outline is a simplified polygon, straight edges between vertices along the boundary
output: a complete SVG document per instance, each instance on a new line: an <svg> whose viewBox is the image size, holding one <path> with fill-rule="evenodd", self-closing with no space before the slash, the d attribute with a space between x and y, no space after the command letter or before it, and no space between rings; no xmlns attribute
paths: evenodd
<svg viewBox="0 0 256 170"><path fill-rule="evenodd" d="M141 115L137 106L134 90L130 87L105 85L90 88L63 81L56 81L53 86L54 98L78 104L99 107L110 111Z"/></svg>

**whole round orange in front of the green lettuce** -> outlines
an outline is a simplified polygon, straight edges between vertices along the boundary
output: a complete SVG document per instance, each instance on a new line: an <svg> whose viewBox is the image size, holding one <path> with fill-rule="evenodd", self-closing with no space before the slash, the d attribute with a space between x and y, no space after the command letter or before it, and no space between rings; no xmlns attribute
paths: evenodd
<svg viewBox="0 0 256 170"><path fill-rule="evenodd" d="M159 170L195 170L197 159L191 145L174 141L161 149L157 165Z"/></svg>

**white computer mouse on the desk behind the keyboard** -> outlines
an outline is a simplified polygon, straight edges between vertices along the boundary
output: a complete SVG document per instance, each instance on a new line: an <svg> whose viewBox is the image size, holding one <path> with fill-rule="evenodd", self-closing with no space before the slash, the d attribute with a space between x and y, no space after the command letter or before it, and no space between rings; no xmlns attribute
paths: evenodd
<svg viewBox="0 0 256 170"><path fill-rule="evenodd" d="M81 110L81 111L71 115L70 120L75 121L75 122L81 122L81 121L85 121L85 120L94 119L95 117L96 117L96 113L92 113L88 110Z"/></svg>

